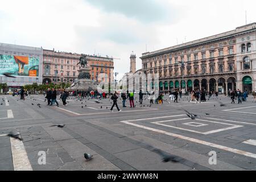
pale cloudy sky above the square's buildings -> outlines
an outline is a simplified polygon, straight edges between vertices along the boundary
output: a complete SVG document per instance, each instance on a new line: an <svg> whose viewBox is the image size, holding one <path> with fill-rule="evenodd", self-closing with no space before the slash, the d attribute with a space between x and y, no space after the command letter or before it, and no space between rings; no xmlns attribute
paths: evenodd
<svg viewBox="0 0 256 182"><path fill-rule="evenodd" d="M254 0L1 1L0 42L113 56L119 78L139 57L256 22Z"/></svg>

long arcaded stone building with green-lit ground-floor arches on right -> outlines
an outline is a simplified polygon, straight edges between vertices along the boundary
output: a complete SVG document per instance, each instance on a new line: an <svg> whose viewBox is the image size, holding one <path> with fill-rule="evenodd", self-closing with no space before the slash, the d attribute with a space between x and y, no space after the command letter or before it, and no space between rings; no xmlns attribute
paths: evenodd
<svg viewBox="0 0 256 182"><path fill-rule="evenodd" d="M142 54L142 69L159 74L159 90L256 90L256 23ZM151 82L154 88L154 81Z"/></svg>

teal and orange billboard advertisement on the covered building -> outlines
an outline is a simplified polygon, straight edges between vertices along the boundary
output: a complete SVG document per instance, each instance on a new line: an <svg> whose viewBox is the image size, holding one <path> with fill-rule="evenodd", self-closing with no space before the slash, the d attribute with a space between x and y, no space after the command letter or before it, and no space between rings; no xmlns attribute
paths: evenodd
<svg viewBox="0 0 256 182"><path fill-rule="evenodd" d="M0 55L0 75L13 73L13 76L39 76L39 57Z"/></svg>

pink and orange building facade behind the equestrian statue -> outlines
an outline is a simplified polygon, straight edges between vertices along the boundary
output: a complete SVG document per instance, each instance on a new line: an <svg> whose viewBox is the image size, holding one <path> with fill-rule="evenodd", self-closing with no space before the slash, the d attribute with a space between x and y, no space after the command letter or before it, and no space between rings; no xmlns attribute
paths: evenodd
<svg viewBox="0 0 256 182"><path fill-rule="evenodd" d="M53 50L43 50L43 84L53 82L74 82L79 76L81 68L79 58L81 54L56 52ZM98 76L105 73L110 77L114 69L114 61L109 57L87 56L90 76L93 81L98 81ZM113 74L112 74L113 75Z"/></svg>

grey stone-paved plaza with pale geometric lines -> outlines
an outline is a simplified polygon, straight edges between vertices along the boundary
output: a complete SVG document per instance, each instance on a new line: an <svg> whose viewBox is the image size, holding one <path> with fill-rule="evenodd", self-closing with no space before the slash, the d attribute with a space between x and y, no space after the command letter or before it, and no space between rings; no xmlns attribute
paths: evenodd
<svg viewBox="0 0 256 182"><path fill-rule="evenodd" d="M23 101L0 96L0 170L256 169L252 97L241 105L237 100L230 104L225 96L202 103L188 102L184 96L178 103L152 106L148 100L142 105L136 100L135 108L129 107L129 101L123 108L118 100L120 113L116 108L109 112L109 99L97 104L70 97L67 106L59 101L56 107L46 106L42 95L31 97ZM218 101L226 106L220 107ZM183 109L200 117L192 120ZM66 126L49 127L55 124ZM19 132L23 141L5 137L10 131ZM162 163L147 144L186 160ZM45 165L38 163L40 151L46 152ZM210 151L217 153L216 165L209 164ZM85 152L93 160L86 162Z"/></svg>

